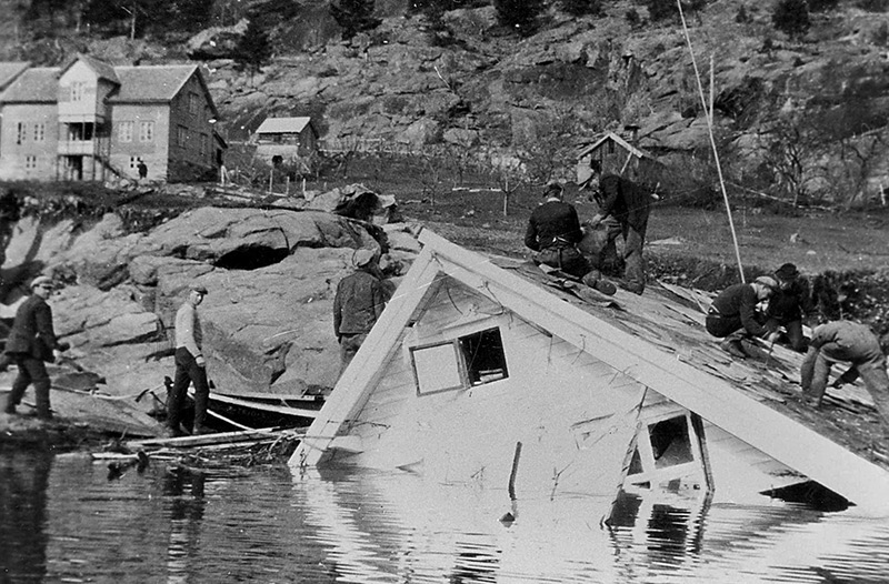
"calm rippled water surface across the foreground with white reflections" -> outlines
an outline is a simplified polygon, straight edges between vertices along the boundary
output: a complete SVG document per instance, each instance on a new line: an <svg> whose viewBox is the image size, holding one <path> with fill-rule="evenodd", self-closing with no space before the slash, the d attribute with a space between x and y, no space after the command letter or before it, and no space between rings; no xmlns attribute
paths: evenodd
<svg viewBox="0 0 889 584"><path fill-rule="evenodd" d="M607 504L0 451L0 583L889 582L887 518L637 499L607 527Z"/></svg>

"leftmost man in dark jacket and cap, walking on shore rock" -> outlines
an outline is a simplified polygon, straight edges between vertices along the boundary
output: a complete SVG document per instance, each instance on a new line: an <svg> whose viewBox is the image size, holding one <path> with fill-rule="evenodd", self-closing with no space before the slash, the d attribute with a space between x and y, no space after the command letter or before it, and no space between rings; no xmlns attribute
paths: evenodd
<svg viewBox="0 0 889 584"><path fill-rule="evenodd" d="M33 384L37 403L37 416L41 420L52 419L49 405L50 379L44 362L53 362L59 353L68 348L59 343L52 328L52 309L47 299L52 293L52 280L46 275L31 282L31 295L16 311L16 321L7 339L6 354L16 363L19 374L12 382L3 411L16 413L28 385Z"/></svg>

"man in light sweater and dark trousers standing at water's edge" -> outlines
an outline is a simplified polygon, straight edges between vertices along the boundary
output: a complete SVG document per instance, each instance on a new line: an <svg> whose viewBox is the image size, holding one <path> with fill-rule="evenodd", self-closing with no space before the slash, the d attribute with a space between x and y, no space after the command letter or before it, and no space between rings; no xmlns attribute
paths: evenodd
<svg viewBox="0 0 889 584"><path fill-rule="evenodd" d="M194 384L194 423L192 434L206 434L203 421L207 417L207 402L210 400L210 384L207 381L207 361L203 359L201 343L201 321L198 305L203 302L207 289L200 284L189 288L188 300L176 313L176 375L173 386L167 394L167 429L170 437L186 435L180 425L182 405L190 383Z"/></svg>

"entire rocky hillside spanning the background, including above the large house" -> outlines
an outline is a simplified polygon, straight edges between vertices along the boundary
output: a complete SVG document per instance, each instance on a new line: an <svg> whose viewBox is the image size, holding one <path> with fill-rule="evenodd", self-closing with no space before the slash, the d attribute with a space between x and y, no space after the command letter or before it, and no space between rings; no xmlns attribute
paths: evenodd
<svg viewBox="0 0 889 584"><path fill-rule="evenodd" d="M776 30L776 2L711 1L687 14L707 93L712 67L713 135L728 189L792 202L883 201L886 2L841 0L812 13L811 28L795 39ZM3 4L12 10L16 3ZM190 37L131 41L81 27L47 37L30 52L12 49L20 34L9 23L0 26L0 38L7 58L39 64L76 51L114 63L201 62L230 142L246 139L267 115L310 114L333 147L437 153L488 168L518 154L539 181L571 178L579 144L632 124L639 145L666 163L665 193L719 198L679 19L652 20L638 0L603 0L595 17L571 17L547 2L538 31L521 38L485 2L448 11L440 23L409 13L403 1L376 4L380 26L349 41L340 40L321 0L217 0L222 17L216 21L223 26ZM257 6L266 7L273 57L250 74L232 56L247 30L248 21L238 19Z"/></svg>

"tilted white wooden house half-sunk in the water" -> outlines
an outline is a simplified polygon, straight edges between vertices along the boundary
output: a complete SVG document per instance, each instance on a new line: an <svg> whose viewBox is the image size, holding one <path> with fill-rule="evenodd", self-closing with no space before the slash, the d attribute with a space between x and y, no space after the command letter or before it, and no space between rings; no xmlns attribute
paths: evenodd
<svg viewBox="0 0 889 584"><path fill-rule="evenodd" d="M519 499L756 503L817 484L887 510L889 472L819 433L793 399L800 355L732 360L680 289L603 296L428 230L419 239L291 467L401 470Z"/></svg>

